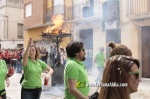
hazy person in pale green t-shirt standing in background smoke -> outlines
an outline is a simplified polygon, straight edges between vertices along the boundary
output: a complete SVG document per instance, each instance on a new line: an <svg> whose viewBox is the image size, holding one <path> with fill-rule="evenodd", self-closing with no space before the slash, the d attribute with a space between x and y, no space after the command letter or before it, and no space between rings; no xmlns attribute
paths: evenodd
<svg viewBox="0 0 150 99"><path fill-rule="evenodd" d="M96 54L95 59L94 59L94 64L96 63L97 70L98 70L98 76L96 78L96 81L100 81L102 79L103 70L104 70L104 62L105 62L104 48L101 47L100 51Z"/></svg>

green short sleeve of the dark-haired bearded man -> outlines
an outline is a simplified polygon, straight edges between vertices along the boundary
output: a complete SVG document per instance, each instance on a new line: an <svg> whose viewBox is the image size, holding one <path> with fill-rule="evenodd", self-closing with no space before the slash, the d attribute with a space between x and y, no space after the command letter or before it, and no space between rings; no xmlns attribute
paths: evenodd
<svg viewBox="0 0 150 99"><path fill-rule="evenodd" d="M79 69L76 65L68 64L66 70L67 79L78 79L79 77Z"/></svg>

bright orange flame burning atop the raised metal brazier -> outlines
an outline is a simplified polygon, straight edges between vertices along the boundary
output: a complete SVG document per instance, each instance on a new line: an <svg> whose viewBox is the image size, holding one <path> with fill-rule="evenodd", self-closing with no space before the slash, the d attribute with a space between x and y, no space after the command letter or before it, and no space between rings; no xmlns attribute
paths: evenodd
<svg viewBox="0 0 150 99"><path fill-rule="evenodd" d="M62 24L64 22L63 20L63 16L61 14L57 14L57 15L53 15L52 17L52 23L54 24L54 26L49 26L44 33L54 33L54 34L58 34L60 32L62 32Z"/></svg>

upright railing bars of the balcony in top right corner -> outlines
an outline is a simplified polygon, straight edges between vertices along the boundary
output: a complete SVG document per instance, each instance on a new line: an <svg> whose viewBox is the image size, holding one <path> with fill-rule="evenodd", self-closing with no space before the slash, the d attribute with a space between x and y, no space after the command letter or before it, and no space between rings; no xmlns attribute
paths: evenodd
<svg viewBox="0 0 150 99"><path fill-rule="evenodd" d="M127 16L150 13L150 0L127 0Z"/></svg>

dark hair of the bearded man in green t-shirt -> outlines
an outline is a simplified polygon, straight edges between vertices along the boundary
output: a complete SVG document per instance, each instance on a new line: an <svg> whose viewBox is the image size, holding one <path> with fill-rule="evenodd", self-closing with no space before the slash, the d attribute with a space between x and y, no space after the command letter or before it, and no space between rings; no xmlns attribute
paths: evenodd
<svg viewBox="0 0 150 99"><path fill-rule="evenodd" d="M83 49L82 42L77 42L77 41L70 42L66 46L67 57L74 58L76 56L76 53L80 52L81 49Z"/></svg>

